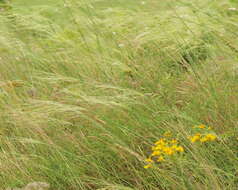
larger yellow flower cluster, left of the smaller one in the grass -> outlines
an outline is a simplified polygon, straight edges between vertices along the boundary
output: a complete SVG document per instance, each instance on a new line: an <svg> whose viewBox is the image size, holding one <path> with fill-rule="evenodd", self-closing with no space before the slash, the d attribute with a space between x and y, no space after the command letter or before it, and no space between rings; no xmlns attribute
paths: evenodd
<svg viewBox="0 0 238 190"><path fill-rule="evenodd" d="M164 136L168 135L165 134ZM144 168L146 169L152 167L155 162L160 163L165 161L168 156L184 152L184 148L178 145L178 141L176 139L161 138L154 144L152 151L153 152L150 157L145 160L147 164Z"/></svg>

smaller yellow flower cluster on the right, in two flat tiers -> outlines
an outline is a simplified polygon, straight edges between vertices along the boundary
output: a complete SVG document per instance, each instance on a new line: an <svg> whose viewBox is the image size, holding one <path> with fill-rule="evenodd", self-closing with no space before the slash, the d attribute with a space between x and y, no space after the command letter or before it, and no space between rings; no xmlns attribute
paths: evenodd
<svg viewBox="0 0 238 190"><path fill-rule="evenodd" d="M211 127L207 127L206 125L198 125L198 126L194 126L193 128L196 129L202 129L202 130L211 130ZM189 137L189 140L192 143L195 142L209 142L209 141L215 141L217 139L217 136L212 134L212 133L196 133L195 135L192 135Z"/></svg>

